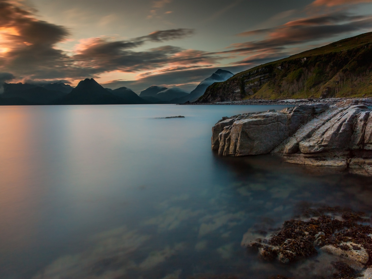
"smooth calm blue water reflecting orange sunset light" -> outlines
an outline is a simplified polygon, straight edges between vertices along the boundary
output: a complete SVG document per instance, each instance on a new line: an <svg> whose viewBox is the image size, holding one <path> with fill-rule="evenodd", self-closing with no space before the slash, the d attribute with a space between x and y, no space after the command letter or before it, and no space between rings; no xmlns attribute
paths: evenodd
<svg viewBox="0 0 372 279"><path fill-rule="evenodd" d="M304 203L370 213L371 179L212 153L222 116L272 108L0 107L0 278L311 277L247 253L243 234Z"/></svg>

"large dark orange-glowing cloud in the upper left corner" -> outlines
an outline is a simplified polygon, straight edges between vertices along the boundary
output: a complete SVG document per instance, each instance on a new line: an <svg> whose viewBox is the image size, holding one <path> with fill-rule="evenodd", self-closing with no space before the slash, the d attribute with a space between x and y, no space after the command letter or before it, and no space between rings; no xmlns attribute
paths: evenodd
<svg viewBox="0 0 372 279"><path fill-rule="evenodd" d="M17 2L0 0L0 28L3 32L0 47L7 51L0 55L0 67L19 76L53 71L68 58L56 43L68 37L63 26L37 20ZM0 69L1 69L0 68Z"/></svg>

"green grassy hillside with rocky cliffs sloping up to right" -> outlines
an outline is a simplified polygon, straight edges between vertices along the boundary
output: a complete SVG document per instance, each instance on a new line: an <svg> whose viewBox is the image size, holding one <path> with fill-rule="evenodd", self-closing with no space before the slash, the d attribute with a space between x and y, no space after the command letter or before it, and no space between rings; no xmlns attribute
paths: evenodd
<svg viewBox="0 0 372 279"><path fill-rule="evenodd" d="M362 96L372 96L372 32L235 74L196 102Z"/></svg>

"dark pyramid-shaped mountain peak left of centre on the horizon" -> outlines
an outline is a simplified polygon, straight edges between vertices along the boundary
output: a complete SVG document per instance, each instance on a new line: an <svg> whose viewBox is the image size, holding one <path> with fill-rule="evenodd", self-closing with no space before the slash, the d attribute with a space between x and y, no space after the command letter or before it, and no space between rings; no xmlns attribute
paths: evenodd
<svg viewBox="0 0 372 279"><path fill-rule="evenodd" d="M54 105L119 105L125 100L110 93L93 78L86 78Z"/></svg>

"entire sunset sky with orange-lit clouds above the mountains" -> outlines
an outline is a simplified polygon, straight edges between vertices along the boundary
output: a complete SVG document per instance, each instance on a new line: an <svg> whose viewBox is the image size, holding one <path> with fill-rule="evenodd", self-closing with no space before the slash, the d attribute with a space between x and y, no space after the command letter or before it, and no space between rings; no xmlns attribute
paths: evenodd
<svg viewBox="0 0 372 279"><path fill-rule="evenodd" d="M190 92L372 31L372 0L0 0L0 83Z"/></svg>

